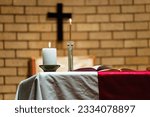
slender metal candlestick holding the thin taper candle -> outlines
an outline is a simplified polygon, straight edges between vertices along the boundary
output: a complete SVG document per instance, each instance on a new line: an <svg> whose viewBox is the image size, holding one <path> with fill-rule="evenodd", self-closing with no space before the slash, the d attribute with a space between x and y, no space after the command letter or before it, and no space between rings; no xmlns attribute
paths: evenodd
<svg viewBox="0 0 150 117"><path fill-rule="evenodd" d="M67 42L67 49L68 49L68 71L73 70L73 41Z"/></svg>

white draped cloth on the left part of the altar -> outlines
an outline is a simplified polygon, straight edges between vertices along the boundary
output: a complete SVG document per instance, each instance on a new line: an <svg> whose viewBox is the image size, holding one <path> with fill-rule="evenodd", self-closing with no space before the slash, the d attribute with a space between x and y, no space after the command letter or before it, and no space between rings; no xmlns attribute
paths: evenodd
<svg viewBox="0 0 150 117"><path fill-rule="evenodd" d="M20 82L17 100L98 100L97 72L40 72Z"/></svg>

